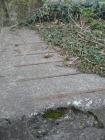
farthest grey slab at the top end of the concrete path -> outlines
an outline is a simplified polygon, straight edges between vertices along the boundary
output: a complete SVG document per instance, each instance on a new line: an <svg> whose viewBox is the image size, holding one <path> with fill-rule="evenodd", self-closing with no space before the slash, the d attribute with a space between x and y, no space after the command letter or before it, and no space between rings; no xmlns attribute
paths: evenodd
<svg viewBox="0 0 105 140"><path fill-rule="evenodd" d="M36 35L34 31L29 31L25 28L15 31L10 31L9 28L3 28L0 34L0 40L4 46L12 44L34 44L36 42L42 42L40 37Z"/></svg>

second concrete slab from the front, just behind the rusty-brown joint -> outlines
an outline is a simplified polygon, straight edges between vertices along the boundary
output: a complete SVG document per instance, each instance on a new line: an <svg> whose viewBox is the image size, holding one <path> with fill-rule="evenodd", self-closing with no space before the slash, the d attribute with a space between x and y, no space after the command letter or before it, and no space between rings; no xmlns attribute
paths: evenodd
<svg viewBox="0 0 105 140"><path fill-rule="evenodd" d="M56 95L58 93L74 93L105 89L105 79L96 75L77 74L60 77L42 77L42 79L23 79L17 81L19 89L35 96ZM11 89L10 89L11 90ZM13 90L13 88L12 88ZM18 91L18 89L17 89Z"/></svg>

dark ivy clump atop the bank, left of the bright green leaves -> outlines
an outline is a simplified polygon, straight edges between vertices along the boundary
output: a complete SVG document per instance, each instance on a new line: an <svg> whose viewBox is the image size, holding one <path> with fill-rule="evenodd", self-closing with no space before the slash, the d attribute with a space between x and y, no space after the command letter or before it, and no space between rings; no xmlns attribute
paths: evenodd
<svg viewBox="0 0 105 140"><path fill-rule="evenodd" d="M32 17L27 19L28 24L35 22L49 22L58 20L69 22L72 18L77 18L80 14L79 6L66 4L64 2L46 1L40 9L36 10Z"/></svg>

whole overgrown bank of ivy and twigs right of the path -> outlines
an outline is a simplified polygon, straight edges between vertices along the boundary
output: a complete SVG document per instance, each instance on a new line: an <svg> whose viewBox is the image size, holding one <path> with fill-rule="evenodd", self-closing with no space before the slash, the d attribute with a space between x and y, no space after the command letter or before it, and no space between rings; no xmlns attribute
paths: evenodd
<svg viewBox="0 0 105 140"><path fill-rule="evenodd" d="M66 54L64 65L105 76L105 21L97 8L48 3L27 23L40 23L38 29L44 40ZM72 57L76 58L73 63Z"/></svg>

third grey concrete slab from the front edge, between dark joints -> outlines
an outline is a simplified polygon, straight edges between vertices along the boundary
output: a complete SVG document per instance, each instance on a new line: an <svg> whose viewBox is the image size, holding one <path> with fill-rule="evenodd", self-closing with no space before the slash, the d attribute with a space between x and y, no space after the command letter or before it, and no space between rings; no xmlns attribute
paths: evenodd
<svg viewBox="0 0 105 140"><path fill-rule="evenodd" d="M19 81L40 79L43 77L56 77L80 73L76 69L64 67L62 62L17 67L16 73L12 74Z"/></svg>

